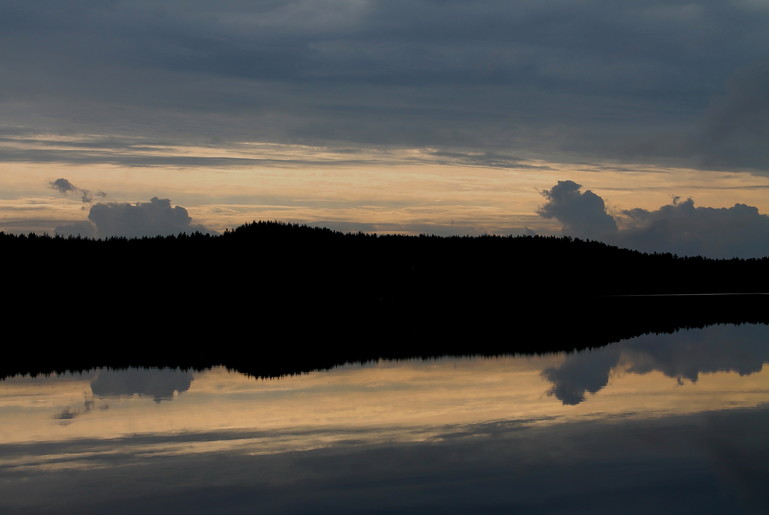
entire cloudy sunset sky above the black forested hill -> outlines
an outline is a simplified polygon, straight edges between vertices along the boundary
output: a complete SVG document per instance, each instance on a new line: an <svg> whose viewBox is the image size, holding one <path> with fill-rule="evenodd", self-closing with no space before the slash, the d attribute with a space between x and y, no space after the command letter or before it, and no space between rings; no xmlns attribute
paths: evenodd
<svg viewBox="0 0 769 515"><path fill-rule="evenodd" d="M0 0L0 45L0 231L769 255L764 0Z"/></svg>

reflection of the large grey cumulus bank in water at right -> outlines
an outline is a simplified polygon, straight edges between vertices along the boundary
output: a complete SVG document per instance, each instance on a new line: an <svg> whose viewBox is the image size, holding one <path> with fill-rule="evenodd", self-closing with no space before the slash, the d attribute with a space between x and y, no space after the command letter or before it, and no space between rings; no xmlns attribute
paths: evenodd
<svg viewBox="0 0 769 515"><path fill-rule="evenodd" d="M722 325L675 334L644 335L607 347L570 354L563 363L543 370L552 383L549 391L563 404L576 405L587 394L609 384L618 371L647 374L653 371L675 379L697 382L700 374L760 372L769 363L767 327Z"/></svg>

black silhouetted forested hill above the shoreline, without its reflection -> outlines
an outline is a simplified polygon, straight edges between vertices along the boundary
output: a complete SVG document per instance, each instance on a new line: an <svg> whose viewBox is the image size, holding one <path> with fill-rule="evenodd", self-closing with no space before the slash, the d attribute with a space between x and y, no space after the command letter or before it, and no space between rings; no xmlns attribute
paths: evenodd
<svg viewBox="0 0 769 515"><path fill-rule="evenodd" d="M399 302L769 291L769 258L649 255L568 237L377 236L254 222L220 236L91 240L0 233L0 251L6 273L23 273L38 286L96 291Z"/></svg>

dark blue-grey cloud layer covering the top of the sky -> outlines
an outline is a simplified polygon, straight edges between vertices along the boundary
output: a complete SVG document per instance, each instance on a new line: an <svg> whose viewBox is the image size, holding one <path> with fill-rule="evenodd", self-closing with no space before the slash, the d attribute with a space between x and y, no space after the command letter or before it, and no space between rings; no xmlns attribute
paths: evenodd
<svg viewBox="0 0 769 515"><path fill-rule="evenodd" d="M0 0L0 44L27 133L769 169L758 2Z"/></svg>

